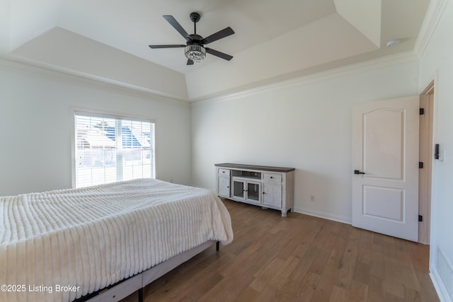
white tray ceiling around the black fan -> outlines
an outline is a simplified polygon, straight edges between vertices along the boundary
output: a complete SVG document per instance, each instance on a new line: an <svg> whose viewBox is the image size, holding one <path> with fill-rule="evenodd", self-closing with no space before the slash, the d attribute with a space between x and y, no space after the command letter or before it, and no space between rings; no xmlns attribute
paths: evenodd
<svg viewBox="0 0 453 302"><path fill-rule="evenodd" d="M7 26L6 34L0 31L0 43L11 55L183 100L412 50L429 4L429 0L1 1L0 8L8 13L0 14L4 18L0 25ZM185 44L162 16L172 15L193 33L192 11L202 15L197 34L203 37L233 28L234 35L209 45L234 56L230 62L207 54L203 62L187 66L183 48L148 47ZM401 44L385 47L391 39ZM133 60L133 66L152 70L134 74L127 66ZM121 66L127 76L113 65ZM175 79L174 86L185 82L181 84L185 87L159 83L166 76L166 81Z"/></svg>

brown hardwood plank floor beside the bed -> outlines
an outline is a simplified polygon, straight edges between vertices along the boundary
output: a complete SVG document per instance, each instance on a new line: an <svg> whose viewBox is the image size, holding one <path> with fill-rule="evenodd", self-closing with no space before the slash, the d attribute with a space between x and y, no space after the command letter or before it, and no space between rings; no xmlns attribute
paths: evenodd
<svg viewBox="0 0 453 302"><path fill-rule="evenodd" d="M144 288L144 301L439 301L429 246L224 200L234 240ZM137 293L123 302L138 301Z"/></svg>

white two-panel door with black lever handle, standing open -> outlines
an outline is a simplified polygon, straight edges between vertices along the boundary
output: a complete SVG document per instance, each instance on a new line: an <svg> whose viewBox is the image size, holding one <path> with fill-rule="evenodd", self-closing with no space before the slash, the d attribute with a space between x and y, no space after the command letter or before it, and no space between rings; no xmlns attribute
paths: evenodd
<svg viewBox="0 0 453 302"><path fill-rule="evenodd" d="M352 226L418 240L418 122L418 96L352 109Z"/></svg>

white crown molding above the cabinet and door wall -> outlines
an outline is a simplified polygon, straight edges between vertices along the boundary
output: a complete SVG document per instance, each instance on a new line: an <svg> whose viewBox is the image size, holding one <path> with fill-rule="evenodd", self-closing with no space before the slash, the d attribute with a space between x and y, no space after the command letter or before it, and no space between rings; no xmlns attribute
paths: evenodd
<svg viewBox="0 0 453 302"><path fill-rule="evenodd" d="M396 64L403 64L406 62L413 62L419 59L418 55L413 51L400 52L398 54L392 54L390 56L381 57L378 59L372 59L365 62L360 62L356 64L350 64L348 66L338 67L336 69L330 69L328 71L321 71L316 74L310 74L307 76L301 76L287 81L280 81L277 83L268 84L265 86L260 86L257 88L251 88L244 91L239 91L237 93L229 93L226 95L221 95L214 98L205 98L202 100L197 100L191 105L193 107L198 105L205 105L208 103L222 103L229 100L237 100L238 98L245 98L250 95L256 95L259 93L267 93L270 91L275 91L278 89L291 88L294 86L300 86L306 83L313 83L316 81L323 81L327 79L333 79L340 76L348 76L350 74L359 74L361 72L370 71L374 69L380 69L387 66L392 66Z"/></svg>

